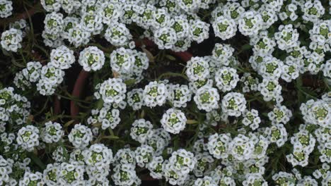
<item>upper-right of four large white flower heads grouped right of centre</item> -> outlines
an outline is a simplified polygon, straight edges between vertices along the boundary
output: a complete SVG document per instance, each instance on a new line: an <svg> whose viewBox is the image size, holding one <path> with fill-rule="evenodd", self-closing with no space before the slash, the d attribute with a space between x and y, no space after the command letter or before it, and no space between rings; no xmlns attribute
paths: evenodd
<svg viewBox="0 0 331 186"><path fill-rule="evenodd" d="M239 81L237 70L230 67L219 68L215 73L216 86L222 91L227 92L234 89Z"/></svg>

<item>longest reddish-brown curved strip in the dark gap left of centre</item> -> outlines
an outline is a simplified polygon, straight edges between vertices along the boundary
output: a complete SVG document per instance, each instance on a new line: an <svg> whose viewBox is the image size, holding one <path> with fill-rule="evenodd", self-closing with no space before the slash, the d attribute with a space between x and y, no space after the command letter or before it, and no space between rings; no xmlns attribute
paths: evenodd
<svg viewBox="0 0 331 186"><path fill-rule="evenodd" d="M77 77L77 80L74 85L74 89L71 93L73 97L80 97L81 91L83 90L88 75L88 72L86 72L85 70L81 70L81 73L79 73L79 76ZM77 114L79 113L79 106L75 104L75 101L70 101L70 113L72 117L77 116Z"/></svg>

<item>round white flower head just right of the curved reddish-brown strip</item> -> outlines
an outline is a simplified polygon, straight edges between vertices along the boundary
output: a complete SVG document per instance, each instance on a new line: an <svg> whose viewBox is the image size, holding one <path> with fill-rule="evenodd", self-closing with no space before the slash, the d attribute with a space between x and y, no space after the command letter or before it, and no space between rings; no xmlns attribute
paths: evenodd
<svg viewBox="0 0 331 186"><path fill-rule="evenodd" d="M105 103L120 104L125 99L127 85L122 82L122 79L109 78L100 85L98 92Z"/></svg>

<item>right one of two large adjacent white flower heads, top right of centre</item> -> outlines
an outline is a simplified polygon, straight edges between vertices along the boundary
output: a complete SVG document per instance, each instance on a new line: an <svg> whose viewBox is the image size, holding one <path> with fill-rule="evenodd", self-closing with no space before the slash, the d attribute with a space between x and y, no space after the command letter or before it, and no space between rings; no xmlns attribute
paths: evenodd
<svg viewBox="0 0 331 186"><path fill-rule="evenodd" d="M256 11L245 11L238 20L238 29L243 35L257 35L262 29L262 16Z"/></svg>

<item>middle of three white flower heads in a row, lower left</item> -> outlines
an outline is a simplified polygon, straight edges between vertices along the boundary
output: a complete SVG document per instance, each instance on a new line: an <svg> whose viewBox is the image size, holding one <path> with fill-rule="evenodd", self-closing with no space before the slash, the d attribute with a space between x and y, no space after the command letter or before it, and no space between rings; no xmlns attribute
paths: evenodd
<svg viewBox="0 0 331 186"><path fill-rule="evenodd" d="M41 130L42 141L46 143L59 142L63 135L64 130L62 130L62 125L52 123L52 121L45 123L45 128Z"/></svg>

